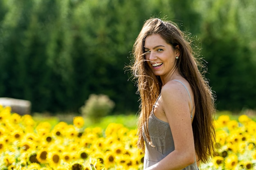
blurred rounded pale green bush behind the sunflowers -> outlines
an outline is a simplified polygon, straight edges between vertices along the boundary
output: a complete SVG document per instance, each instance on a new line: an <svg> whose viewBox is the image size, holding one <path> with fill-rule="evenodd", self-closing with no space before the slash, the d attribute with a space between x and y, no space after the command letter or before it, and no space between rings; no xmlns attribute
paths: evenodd
<svg viewBox="0 0 256 170"><path fill-rule="evenodd" d="M102 117L107 116L114 108L115 103L107 95L91 94L80 110L83 117L99 122Z"/></svg>

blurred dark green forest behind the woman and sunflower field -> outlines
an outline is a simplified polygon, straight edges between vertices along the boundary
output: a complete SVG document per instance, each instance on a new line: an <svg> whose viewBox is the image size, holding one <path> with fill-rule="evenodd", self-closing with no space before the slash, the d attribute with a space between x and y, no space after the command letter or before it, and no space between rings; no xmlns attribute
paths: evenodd
<svg viewBox="0 0 256 170"><path fill-rule="evenodd" d="M137 113L125 66L150 17L195 38L218 110L256 109L256 0L0 0L0 97L66 114L104 94L109 115Z"/></svg>

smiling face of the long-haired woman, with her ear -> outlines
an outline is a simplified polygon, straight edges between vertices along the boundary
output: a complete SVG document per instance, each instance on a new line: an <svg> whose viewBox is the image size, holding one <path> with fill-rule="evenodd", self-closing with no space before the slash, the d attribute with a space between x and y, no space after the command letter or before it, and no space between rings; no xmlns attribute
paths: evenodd
<svg viewBox="0 0 256 170"><path fill-rule="evenodd" d="M174 49L159 34L146 37L144 50L145 59L155 75L163 79L175 72L175 57L180 56L179 50Z"/></svg>

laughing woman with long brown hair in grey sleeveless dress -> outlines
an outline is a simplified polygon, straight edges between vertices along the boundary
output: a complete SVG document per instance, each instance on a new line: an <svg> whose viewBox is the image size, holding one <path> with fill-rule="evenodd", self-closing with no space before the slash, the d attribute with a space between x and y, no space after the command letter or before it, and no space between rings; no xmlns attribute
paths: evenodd
<svg viewBox="0 0 256 170"><path fill-rule="evenodd" d="M144 169L197 170L214 151L215 107L190 42L174 23L150 18L135 41L133 55Z"/></svg>

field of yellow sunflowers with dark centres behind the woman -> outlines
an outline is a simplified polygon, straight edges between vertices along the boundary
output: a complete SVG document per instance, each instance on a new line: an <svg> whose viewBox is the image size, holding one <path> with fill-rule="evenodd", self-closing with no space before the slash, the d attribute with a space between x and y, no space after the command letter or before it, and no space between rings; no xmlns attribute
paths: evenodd
<svg viewBox="0 0 256 170"><path fill-rule="evenodd" d="M142 170L136 130L110 123L85 127L83 117L73 124L52 126L31 115L11 113L0 106L0 170ZM255 170L256 122L246 115L238 121L216 119L216 153L200 170Z"/></svg>

